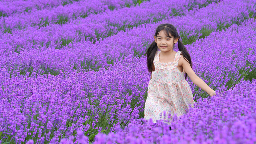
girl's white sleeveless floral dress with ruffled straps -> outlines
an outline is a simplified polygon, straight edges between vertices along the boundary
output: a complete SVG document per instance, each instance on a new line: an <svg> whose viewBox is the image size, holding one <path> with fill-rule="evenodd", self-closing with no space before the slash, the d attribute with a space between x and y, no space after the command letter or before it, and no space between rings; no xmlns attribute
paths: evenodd
<svg viewBox="0 0 256 144"><path fill-rule="evenodd" d="M193 107L192 91L188 82L185 80L185 72L181 72L177 66L181 51L175 54L174 62L162 63L159 60L157 51L154 58L155 71L152 72L152 79L148 84L148 95L145 102L144 118L152 118L153 122L163 119L163 111L166 111L166 118L169 113L172 116L183 115L189 107ZM160 118L162 115L162 118Z"/></svg>

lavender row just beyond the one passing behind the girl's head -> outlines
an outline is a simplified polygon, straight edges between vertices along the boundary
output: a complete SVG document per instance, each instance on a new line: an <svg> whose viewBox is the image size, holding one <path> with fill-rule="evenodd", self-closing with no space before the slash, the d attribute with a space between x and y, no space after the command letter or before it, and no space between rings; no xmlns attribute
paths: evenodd
<svg viewBox="0 0 256 144"><path fill-rule="evenodd" d="M189 3L191 2L194 1L189 1ZM208 2L206 0L199 0L199 2L204 2L207 4L211 3L211 1ZM195 5L195 8L201 6L199 2L198 5ZM116 11L107 11L102 14L93 14L86 18L72 19L68 24L66 24L66 22L68 22L68 19L70 19L70 16L72 14L68 13L70 16L59 15L61 20L58 21L58 18L56 18L58 17L58 14L56 14L55 16L53 15L56 12L60 12L56 8L56 12L51 12L52 16L49 17L52 17L50 19L54 19L54 21L58 24L49 25L50 23L47 20L41 23L41 25L45 25L46 27L41 27L39 30L38 28L40 27L40 25L26 26L27 23L25 21L29 23L28 25L31 25L33 21L35 21L35 23L40 23L37 18L34 18L34 16L37 15L32 15L31 18L26 16L26 19L21 19L23 22L16 21L16 19L13 20L13 18L12 21L4 20L5 23L1 23L2 26L0 27L2 27L2 31L4 31L7 36L12 36L12 39L23 39L18 42L19 44L16 44L17 40L14 40L16 42L14 42L14 45L12 45L13 48L18 46L20 49L26 49L26 44L21 43L27 42L28 45L30 45L29 48L31 48L31 46L33 45L42 45L48 48L49 44L52 44L53 46L51 47L60 49L71 42L95 42L96 40L110 37L119 32L120 30L125 31L128 28L136 27L144 23L160 21L164 19L168 13L172 12L172 8L179 7L181 9L179 13L182 15L186 12L185 7L183 8L183 5L186 3L187 0L178 0L175 3L170 3L167 0L154 0L141 3L140 5L132 8L122 8ZM151 10L156 7L160 7L161 11L158 13L152 12ZM64 9L66 9L66 7L64 7ZM72 9L72 11L75 10L75 8L74 10ZM84 9L82 8L82 10ZM45 15L45 12L43 13L43 15ZM123 17L123 15L129 16ZM44 19L46 19L46 17ZM61 26L60 24L63 25ZM26 28L22 29L22 27L24 26Z"/></svg>

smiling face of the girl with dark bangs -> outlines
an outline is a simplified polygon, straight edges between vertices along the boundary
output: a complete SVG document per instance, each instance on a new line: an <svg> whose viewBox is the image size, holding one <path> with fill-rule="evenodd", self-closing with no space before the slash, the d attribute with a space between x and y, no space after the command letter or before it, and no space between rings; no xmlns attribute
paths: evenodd
<svg viewBox="0 0 256 144"><path fill-rule="evenodd" d="M164 52L167 52L167 51L170 51L170 50L173 50L173 45L175 43L178 42L179 38L177 39L174 39L173 36L171 36L171 34L169 33L169 36L168 37L164 30L161 30L159 32L159 35L158 37L154 36L154 39L155 39L155 42L157 43L157 46L158 48L161 50L161 51L164 51Z"/></svg>

